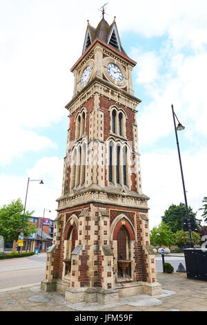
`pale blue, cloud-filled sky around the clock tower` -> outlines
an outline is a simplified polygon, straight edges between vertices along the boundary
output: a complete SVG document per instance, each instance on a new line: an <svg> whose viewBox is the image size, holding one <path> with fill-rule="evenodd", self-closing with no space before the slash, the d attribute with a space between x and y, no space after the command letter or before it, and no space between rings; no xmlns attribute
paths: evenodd
<svg viewBox="0 0 207 325"><path fill-rule="evenodd" d="M21 198L34 216L55 219L66 155L70 68L81 56L87 20L101 20L103 1L0 0L0 207ZM188 205L207 195L207 2L110 0L121 44L137 62L143 192L150 229L171 204L184 202L171 104L184 131L179 147ZM48 212L51 210L51 213ZM201 217L201 212L197 212Z"/></svg>

